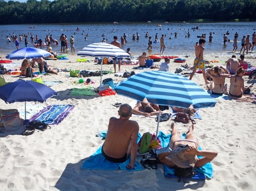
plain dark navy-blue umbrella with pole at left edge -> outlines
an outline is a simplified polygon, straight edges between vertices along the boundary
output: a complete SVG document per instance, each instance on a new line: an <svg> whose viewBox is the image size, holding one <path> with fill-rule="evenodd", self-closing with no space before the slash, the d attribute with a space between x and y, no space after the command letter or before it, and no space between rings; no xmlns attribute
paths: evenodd
<svg viewBox="0 0 256 191"><path fill-rule="evenodd" d="M46 99L56 95L58 95L58 93L47 85L22 79L0 87L0 98L3 99L5 103L25 101L25 120L26 101L44 102Z"/></svg>

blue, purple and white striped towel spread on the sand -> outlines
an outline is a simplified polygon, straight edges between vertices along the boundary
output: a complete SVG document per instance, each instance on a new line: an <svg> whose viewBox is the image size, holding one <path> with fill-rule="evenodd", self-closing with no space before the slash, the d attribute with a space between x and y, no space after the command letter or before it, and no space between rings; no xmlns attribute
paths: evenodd
<svg viewBox="0 0 256 191"><path fill-rule="evenodd" d="M74 109L73 105L49 105L45 109L40 110L37 114L33 115L27 122L30 123L34 120L44 122L48 125L58 125L68 116Z"/></svg>

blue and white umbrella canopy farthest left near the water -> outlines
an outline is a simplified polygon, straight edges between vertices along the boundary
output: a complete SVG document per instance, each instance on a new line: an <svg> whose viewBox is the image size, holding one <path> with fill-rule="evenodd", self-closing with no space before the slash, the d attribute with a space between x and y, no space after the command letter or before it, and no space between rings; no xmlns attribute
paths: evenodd
<svg viewBox="0 0 256 191"><path fill-rule="evenodd" d="M5 58L9 58L10 60L16 59L31 59L31 58L42 58L50 56L51 53L42 49L26 47L22 49L18 49L16 51L11 52Z"/></svg>

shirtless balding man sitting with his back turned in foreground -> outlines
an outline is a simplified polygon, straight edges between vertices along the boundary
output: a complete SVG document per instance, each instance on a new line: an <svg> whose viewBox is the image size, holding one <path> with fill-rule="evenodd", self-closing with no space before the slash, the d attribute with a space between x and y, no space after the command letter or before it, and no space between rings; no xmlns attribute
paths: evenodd
<svg viewBox="0 0 256 191"><path fill-rule="evenodd" d="M132 107L122 104L119 107L119 118L111 117L108 124L108 133L101 148L102 155L113 163L123 163L131 156L128 169L134 169L137 154L138 123L129 118L132 116Z"/></svg>

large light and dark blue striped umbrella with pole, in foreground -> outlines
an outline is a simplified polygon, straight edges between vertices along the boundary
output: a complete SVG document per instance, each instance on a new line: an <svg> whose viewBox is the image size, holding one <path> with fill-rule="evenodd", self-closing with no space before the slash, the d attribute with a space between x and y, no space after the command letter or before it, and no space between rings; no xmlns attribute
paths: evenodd
<svg viewBox="0 0 256 191"><path fill-rule="evenodd" d="M137 101L147 98L150 103L195 109L214 107L216 101L200 86L179 74L164 71L146 71L135 74L115 87L116 93ZM156 135L158 135L158 125ZM156 136L157 137L157 136Z"/></svg>

